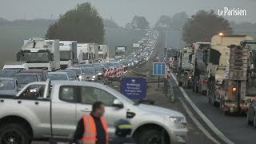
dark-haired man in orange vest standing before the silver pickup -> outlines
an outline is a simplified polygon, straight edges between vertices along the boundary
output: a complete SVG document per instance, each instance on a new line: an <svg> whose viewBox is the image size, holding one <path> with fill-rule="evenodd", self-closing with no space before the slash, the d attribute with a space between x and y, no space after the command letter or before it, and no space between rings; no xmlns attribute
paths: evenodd
<svg viewBox="0 0 256 144"><path fill-rule="evenodd" d="M74 132L73 141L82 144L108 144L106 119L103 118L105 106L102 102L94 102L92 112L83 115Z"/></svg>

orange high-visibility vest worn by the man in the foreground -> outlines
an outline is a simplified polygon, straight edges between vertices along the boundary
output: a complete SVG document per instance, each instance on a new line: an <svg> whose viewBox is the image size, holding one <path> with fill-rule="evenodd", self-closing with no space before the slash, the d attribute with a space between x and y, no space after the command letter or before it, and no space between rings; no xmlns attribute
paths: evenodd
<svg viewBox="0 0 256 144"><path fill-rule="evenodd" d="M83 124L84 124L84 133L82 137L82 144L95 144L97 141L97 130L96 125L94 122L94 118L90 115L83 116ZM102 126L106 133L106 144L108 144L108 130L107 130L107 123L105 118L101 118Z"/></svg>

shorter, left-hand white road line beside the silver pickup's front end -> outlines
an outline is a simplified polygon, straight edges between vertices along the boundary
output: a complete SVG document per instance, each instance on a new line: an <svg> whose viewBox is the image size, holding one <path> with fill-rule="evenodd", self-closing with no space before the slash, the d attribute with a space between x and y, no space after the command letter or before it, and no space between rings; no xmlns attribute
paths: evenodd
<svg viewBox="0 0 256 144"><path fill-rule="evenodd" d="M190 111L190 109L186 106L185 102L183 102L182 98L178 98L179 101L182 103L182 106L184 107L184 109L186 110L186 113L189 114L190 118L193 120L193 122L195 123L195 125L198 126L198 128L200 130L202 130L202 133L206 135L207 138L209 138L210 140L212 140L214 143L216 144L221 144L220 142L218 142L202 125L200 122L198 122L198 120L196 118L194 118L194 114L192 114L192 112Z"/></svg>

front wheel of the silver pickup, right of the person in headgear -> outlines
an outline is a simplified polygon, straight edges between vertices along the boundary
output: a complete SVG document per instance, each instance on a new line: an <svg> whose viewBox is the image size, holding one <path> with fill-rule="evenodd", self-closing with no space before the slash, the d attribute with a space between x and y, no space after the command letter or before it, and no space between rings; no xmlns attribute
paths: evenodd
<svg viewBox="0 0 256 144"><path fill-rule="evenodd" d="M162 133L159 130L144 130L136 141L143 144L167 143L162 142Z"/></svg>

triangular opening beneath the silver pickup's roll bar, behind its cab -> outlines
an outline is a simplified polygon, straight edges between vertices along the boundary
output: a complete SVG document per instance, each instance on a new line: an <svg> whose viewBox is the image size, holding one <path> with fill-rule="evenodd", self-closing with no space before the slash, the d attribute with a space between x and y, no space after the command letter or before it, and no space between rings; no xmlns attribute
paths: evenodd
<svg viewBox="0 0 256 144"><path fill-rule="evenodd" d="M23 91L19 98L27 100L43 100L45 87L45 85L31 85Z"/></svg>

